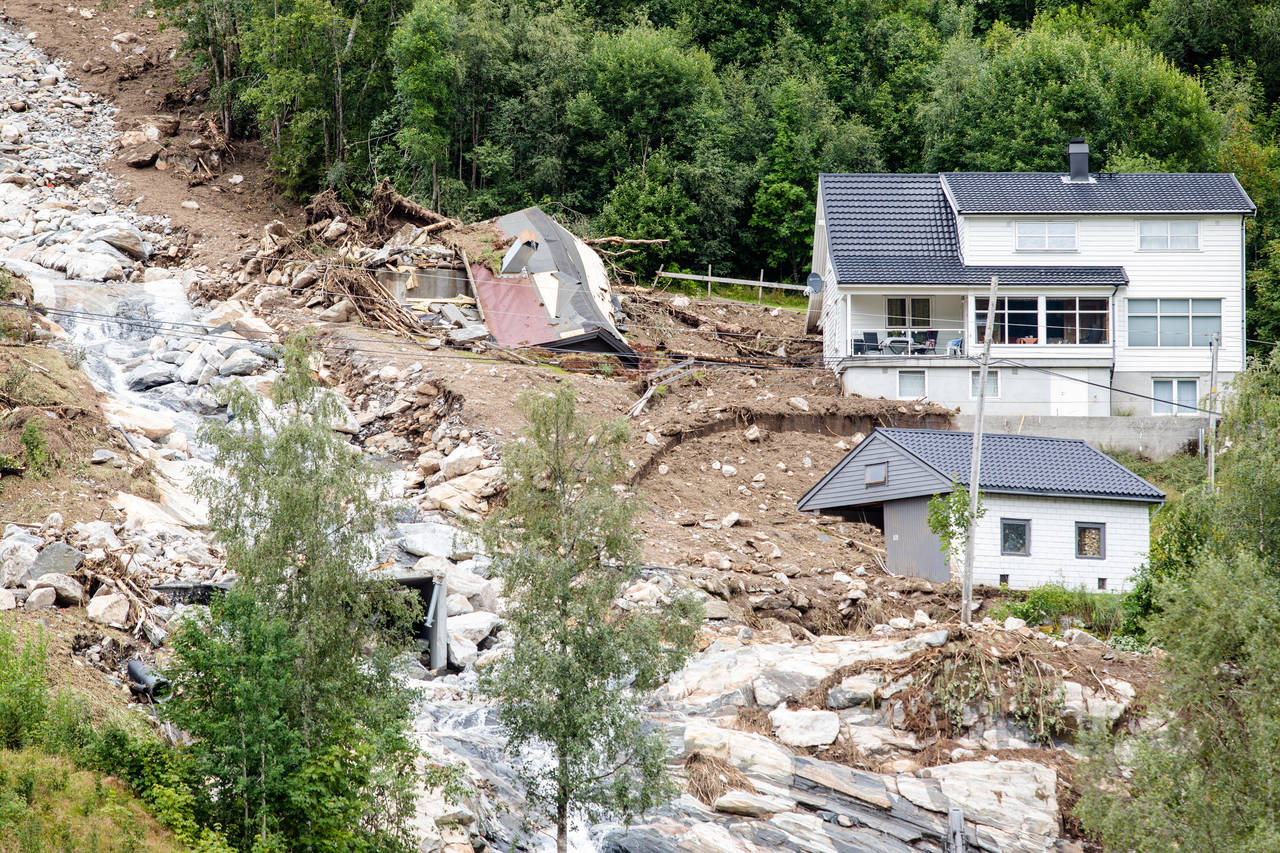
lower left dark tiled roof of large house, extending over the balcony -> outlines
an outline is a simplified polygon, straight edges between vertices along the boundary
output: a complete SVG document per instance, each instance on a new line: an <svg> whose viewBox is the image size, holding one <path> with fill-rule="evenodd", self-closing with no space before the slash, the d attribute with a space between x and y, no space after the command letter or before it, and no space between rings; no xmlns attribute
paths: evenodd
<svg viewBox="0 0 1280 853"><path fill-rule="evenodd" d="M842 284L1106 286L1123 266L968 266L937 174L823 174L827 243Z"/></svg>

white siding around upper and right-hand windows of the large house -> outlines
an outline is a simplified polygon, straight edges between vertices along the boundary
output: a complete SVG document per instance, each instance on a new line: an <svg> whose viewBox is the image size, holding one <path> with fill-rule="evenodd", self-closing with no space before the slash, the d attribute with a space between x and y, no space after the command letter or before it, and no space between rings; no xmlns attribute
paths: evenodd
<svg viewBox="0 0 1280 853"><path fill-rule="evenodd" d="M1116 371L1207 371L1207 347L1128 347L1125 298L1221 298L1222 352L1219 370L1234 374L1244 366L1244 306L1242 293L1243 216L1059 216L1076 223L1076 251L1016 251L1018 219L1050 216L965 216L960 229L966 264L1124 266L1129 287L1115 306ZM1139 251L1140 219L1199 222L1199 250Z"/></svg>

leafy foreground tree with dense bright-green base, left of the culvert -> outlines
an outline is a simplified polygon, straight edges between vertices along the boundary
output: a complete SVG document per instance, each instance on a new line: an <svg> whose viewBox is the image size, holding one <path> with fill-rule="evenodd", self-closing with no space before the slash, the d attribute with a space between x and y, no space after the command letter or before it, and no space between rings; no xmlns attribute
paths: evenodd
<svg viewBox="0 0 1280 853"><path fill-rule="evenodd" d="M385 517L378 471L333 429L330 392L291 338L273 407L241 384L197 483L241 581L175 638L173 720L211 816L238 849L407 843L411 694L394 675L413 601L366 573Z"/></svg>

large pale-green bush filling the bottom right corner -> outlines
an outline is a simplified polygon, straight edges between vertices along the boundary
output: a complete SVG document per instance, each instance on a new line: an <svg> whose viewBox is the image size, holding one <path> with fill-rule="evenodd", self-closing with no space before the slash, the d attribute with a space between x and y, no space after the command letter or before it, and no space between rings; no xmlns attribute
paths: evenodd
<svg viewBox="0 0 1280 853"><path fill-rule="evenodd" d="M1162 597L1152 634L1169 653L1157 735L1103 744L1076 813L1108 849L1270 850L1280 844L1280 584L1261 557L1207 558ZM1225 811L1224 811L1225 809ZM1140 815L1140 820L1134 816ZM1224 820L1229 817L1229 820Z"/></svg>

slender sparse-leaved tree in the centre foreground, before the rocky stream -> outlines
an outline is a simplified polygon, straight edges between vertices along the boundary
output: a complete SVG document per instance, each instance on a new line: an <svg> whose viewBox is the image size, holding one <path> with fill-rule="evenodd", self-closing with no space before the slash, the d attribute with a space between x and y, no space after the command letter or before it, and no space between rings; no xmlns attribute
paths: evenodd
<svg viewBox="0 0 1280 853"><path fill-rule="evenodd" d="M614 488L626 425L589 423L566 386L521 407L529 429L504 453L507 503L481 528L513 644L481 685L522 758L529 803L556 824L563 852L573 817L628 820L671 795L667 747L641 702L685 660L700 615L687 598L660 611L613 607L637 573L637 502Z"/></svg>

